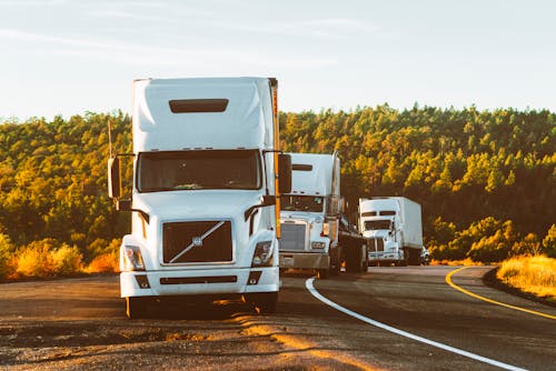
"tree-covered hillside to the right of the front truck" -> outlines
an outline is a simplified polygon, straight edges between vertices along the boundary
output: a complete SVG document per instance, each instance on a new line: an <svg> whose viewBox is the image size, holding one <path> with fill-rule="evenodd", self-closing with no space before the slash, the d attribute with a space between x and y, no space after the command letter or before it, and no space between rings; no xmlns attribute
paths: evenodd
<svg viewBox="0 0 556 371"><path fill-rule="evenodd" d="M359 197L419 202L435 259L556 257L554 113L384 104L280 119L287 151L339 152L351 213Z"/></svg>

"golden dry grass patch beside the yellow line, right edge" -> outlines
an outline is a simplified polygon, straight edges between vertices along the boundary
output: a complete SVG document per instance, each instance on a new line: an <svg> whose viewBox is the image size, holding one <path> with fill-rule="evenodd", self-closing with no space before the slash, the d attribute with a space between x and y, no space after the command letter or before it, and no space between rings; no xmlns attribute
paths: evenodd
<svg viewBox="0 0 556 371"><path fill-rule="evenodd" d="M502 262L496 277L510 287L556 301L556 259L512 258Z"/></svg>

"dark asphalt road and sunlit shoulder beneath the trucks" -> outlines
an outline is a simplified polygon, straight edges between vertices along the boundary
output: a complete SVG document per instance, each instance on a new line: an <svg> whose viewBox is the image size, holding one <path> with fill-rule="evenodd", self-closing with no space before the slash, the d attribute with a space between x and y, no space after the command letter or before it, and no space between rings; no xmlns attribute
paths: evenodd
<svg viewBox="0 0 556 371"><path fill-rule="evenodd" d="M290 273L271 315L171 302L142 320L126 318L117 277L0 284L0 369L555 370L556 308L485 287L481 267L451 281L532 312L470 297L446 282L455 269Z"/></svg>

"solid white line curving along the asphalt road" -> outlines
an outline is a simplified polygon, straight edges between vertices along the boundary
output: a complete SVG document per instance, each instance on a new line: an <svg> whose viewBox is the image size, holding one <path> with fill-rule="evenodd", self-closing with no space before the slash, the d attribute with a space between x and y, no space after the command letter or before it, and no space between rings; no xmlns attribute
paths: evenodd
<svg viewBox="0 0 556 371"><path fill-rule="evenodd" d="M370 318L367 318L365 315L356 313L356 312L354 312L354 311L351 311L351 310L349 310L347 308L344 308L344 307L335 303L334 301L325 298L322 294L320 294L320 292L317 291L317 289L315 289L315 287L312 285L314 281L315 281L314 277L311 277L310 279L307 279L307 281L305 281L305 287L307 288L307 290L309 290L309 292L315 298L317 298L318 300L320 300L325 304L327 304L327 305L329 305L329 307L331 307L331 308L334 308L334 309L336 309L336 310L338 310L338 311L340 311L342 313L351 315L353 318L356 318L356 319L358 319L360 321L364 321L364 322L366 322L368 324L375 325L377 328L380 328L380 329L389 331L389 332L394 332L394 333L396 333L398 335L401 335L401 337L409 338L411 340L420 341L423 343L426 343L426 344L429 344L429 345L433 345L433 347L436 347L436 348L440 348L440 349L446 350L448 352L453 352L453 353L456 353L456 354L459 354L459 355L464 355L464 357L467 357L467 358L470 358L470 359L474 359L474 360L477 360L477 361L480 361L480 362L485 362L485 363L488 363L488 364L492 364L492 365L499 367L500 369L513 370L513 371L517 371L517 370L523 371L523 370L525 370L525 369L520 369L520 368L512 365L512 364L498 362L498 361L492 360L492 359L483 357L483 355L470 353L470 352L467 352L467 351L461 350L461 349L457 349L457 348L454 348L454 347L450 347L450 345L446 345L446 344L443 344L443 343L439 343L439 342L436 342L436 341L433 341L433 340L429 340L429 339L426 339L426 338L421 338L421 337L418 337L416 334L413 334L413 333L409 333L409 332L406 332L406 331L403 331L403 330L398 330L398 329L393 328L393 327L390 327L388 324L384 324L381 322L371 320Z"/></svg>

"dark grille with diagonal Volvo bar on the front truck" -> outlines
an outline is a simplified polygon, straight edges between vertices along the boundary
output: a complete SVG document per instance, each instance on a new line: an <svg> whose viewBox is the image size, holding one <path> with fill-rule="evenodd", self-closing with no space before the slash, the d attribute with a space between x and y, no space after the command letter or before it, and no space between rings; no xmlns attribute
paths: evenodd
<svg viewBox="0 0 556 371"><path fill-rule="evenodd" d="M230 221L187 221L162 225L166 264L231 262Z"/></svg>

